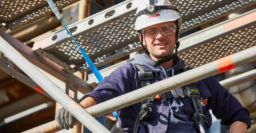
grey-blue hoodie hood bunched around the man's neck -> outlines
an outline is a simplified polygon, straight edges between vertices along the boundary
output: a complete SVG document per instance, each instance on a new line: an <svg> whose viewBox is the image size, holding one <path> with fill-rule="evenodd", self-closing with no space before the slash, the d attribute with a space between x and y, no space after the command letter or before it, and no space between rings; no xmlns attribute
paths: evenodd
<svg viewBox="0 0 256 133"><path fill-rule="evenodd" d="M185 62L183 60L181 60L180 57L174 58L173 61L174 61L174 66L172 68L163 68L162 66L153 68L153 65L156 63L156 61L154 61L148 55L143 53L143 54L137 54L133 63L143 65L152 71L160 73L163 76L170 77L169 72L171 73L172 69L174 72L176 72L176 71L182 69L183 67L185 67ZM166 73L167 75L165 75L165 72L163 71L163 69L165 69L166 72L168 72L168 73Z"/></svg>

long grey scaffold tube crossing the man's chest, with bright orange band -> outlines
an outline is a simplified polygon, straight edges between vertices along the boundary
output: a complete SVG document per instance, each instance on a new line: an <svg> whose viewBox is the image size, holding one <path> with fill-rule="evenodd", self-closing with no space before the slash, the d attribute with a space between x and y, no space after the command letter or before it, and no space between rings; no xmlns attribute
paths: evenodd
<svg viewBox="0 0 256 133"><path fill-rule="evenodd" d="M92 107L86 108L85 110L90 113L93 117L99 117L107 113L116 111L123 107L127 107L134 103L140 102L142 100L149 99L158 94L173 90L177 87L181 87L198 81L203 78L207 78L213 75L220 74L234 67L243 65L245 63L256 60L256 46L245 49L233 55L229 55L220 58L216 61L210 62L208 64L202 65L200 67L194 68L192 70L186 71L179 75L158 81L156 83L150 84L146 87L140 88L138 90L129 92L127 94L121 95L119 97L107 100L105 102L99 103ZM207 68L207 71L203 71ZM115 103L115 104L113 104ZM76 124L79 122L76 121ZM56 127L56 128L53 128ZM27 130L26 132L57 132L62 130L57 123L57 121L52 121L33 129Z"/></svg>

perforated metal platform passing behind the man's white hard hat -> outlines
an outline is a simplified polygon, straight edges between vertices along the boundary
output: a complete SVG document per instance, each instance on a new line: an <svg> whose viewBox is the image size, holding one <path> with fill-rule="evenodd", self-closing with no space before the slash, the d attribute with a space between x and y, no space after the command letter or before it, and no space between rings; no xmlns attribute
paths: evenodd
<svg viewBox="0 0 256 133"><path fill-rule="evenodd" d="M183 33L255 4L256 0L170 0L170 2L180 11L183 20L181 33ZM142 49L131 23L137 4L137 0L127 0L69 26L78 43L96 66ZM81 72L89 70L65 29L36 40L33 50L39 55L51 58L66 69L71 69L69 65L75 64L76 70ZM116 54L107 57L109 52Z"/></svg>

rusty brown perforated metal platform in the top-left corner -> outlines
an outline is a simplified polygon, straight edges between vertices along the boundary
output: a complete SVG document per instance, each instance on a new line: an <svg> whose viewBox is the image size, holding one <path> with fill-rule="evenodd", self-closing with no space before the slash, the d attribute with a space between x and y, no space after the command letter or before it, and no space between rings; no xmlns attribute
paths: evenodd
<svg viewBox="0 0 256 133"><path fill-rule="evenodd" d="M62 9L79 0L53 0ZM1 0L0 22L14 30L25 24L53 13L46 0Z"/></svg>

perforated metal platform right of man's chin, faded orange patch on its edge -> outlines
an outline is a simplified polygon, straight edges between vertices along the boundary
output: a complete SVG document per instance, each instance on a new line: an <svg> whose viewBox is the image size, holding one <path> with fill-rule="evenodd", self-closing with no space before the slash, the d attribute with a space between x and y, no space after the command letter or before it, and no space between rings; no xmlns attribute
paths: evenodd
<svg viewBox="0 0 256 133"><path fill-rule="evenodd" d="M205 40L199 42L199 38ZM256 10L182 38L178 53L187 66L195 68L253 46L256 46Z"/></svg>

